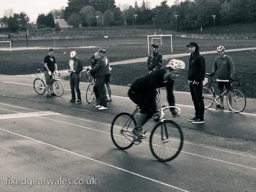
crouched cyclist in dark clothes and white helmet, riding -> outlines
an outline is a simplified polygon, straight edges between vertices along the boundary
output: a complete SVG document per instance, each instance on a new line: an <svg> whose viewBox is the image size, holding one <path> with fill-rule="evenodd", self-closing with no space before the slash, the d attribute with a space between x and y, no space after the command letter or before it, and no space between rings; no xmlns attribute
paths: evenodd
<svg viewBox="0 0 256 192"><path fill-rule="evenodd" d="M131 85L128 95L139 108L138 120L133 133L145 138L142 133L142 126L154 115L154 120L158 121L160 113L157 112L156 106L156 89L166 87L167 101L169 105L175 106L175 97L173 93L174 79L179 76L180 72L185 69L185 63L181 60L171 59L165 66L166 69L148 73L147 75L137 79ZM177 117L180 115L176 109L170 108L172 115Z"/></svg>

